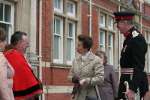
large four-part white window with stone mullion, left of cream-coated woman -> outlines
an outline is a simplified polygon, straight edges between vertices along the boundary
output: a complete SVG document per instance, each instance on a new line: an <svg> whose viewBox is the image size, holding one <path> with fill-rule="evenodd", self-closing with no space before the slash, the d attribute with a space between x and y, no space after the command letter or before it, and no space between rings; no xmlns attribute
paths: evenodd
<svg viewBox="0 0 150 100"><path fill-rule="evenodd" d="M78 2L75 0L53 1L53 63L71 65L75 57L75 37L79 18L76 16Z"/></svg>

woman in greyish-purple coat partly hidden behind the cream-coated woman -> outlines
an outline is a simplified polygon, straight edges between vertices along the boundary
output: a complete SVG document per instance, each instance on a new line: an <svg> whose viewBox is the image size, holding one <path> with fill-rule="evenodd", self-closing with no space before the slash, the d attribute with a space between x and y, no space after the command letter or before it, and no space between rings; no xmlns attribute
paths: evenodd
<svg viewBox="0 0 150 100"><path fill-rule="evenodd" d="M101 100L115 100L117 97L117 79L113 66L107 64L105 52L97 50L96 55L103 59L104 82L99 86Z"/></svg>

